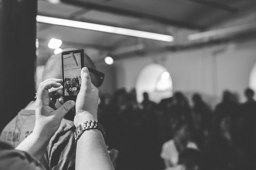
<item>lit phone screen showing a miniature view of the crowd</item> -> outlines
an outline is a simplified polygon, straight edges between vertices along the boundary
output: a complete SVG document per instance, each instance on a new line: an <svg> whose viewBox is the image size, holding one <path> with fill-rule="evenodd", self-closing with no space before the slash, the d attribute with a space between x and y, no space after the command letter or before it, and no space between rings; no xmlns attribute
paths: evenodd
<svg viewBox="0 0 256 170"><path fill-rule="evenodd" d="M81 88L81 53L66 54L63 60L64 96L77 96Z"/></svg>

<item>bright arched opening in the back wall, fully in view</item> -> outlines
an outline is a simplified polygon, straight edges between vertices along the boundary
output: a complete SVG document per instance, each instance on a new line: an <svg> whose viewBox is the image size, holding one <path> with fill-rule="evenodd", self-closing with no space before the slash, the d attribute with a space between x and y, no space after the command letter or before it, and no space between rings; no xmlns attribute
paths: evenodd
<svg viewBox="0 0 256 170"><path fill-rule="evenodd" d="M172 79L165 67L148 65L142 69L136 82L137 100L142 102L143 92L148 92L150 100L158 103L172 96L172 88Z"/></svg>

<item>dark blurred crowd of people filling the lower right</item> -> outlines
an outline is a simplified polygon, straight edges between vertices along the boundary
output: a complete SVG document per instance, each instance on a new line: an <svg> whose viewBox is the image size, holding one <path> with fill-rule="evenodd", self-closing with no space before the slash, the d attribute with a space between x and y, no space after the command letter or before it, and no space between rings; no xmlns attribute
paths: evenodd
<svg viewBox="0 0 256 170"><path fill-rule="evenodd" d="M144 92L138 103L122 88L101 96L98 120L119 150L116 169L256 169L256 101L252 89L244 95L239 103L226 90L212 109L197 93L191 104L182 92L159 103Z"/></svg>

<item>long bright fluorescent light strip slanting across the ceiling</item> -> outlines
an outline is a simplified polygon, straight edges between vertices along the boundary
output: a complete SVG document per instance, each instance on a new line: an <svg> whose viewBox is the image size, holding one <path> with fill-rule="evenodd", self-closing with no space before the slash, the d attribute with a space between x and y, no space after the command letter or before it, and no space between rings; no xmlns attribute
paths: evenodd
<svg viewBox="0 0 256 170"><path fill-rule="evenodd" d="M37 15L37 22L171 42L173 36Z"/></svg>

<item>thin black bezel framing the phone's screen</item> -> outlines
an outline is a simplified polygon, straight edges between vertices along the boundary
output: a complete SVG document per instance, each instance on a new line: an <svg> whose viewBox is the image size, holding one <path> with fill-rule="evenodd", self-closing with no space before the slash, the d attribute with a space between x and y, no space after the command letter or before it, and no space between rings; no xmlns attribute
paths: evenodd
<svg viewBox="0 0 256 170"><path fill-rule="evenodd" d="M80 59L81 59L81 69L84 67L84 49L75 49L75 50L68 50L68 51L63 51L61 53L61 63L62 63L62 97L64 102L69 101L69 100L74 100L76 101L76 97L77 95L72 95L72 96L65 96L65 87L64 87L64 65L63 65L63 55L68 55L68 54L76 54L76 53L80 53Z"/></svg>

